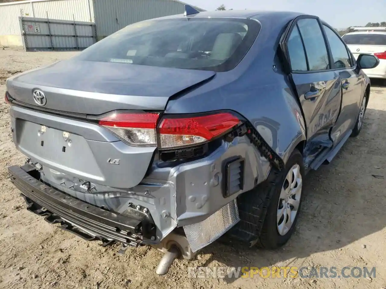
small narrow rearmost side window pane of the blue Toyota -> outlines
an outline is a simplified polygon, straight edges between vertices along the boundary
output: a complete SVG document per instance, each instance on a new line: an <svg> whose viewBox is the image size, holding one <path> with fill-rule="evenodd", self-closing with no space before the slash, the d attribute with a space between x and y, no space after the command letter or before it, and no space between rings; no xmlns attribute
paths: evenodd
<svg viewBox="0 0 386 289"><path fill-rule="evenodd" d="M306 55L301 42L298 27L295 26L289 35L287 42L289 60L293 71L307 71Z"/></svg>

